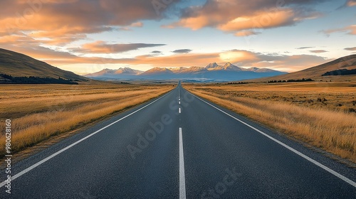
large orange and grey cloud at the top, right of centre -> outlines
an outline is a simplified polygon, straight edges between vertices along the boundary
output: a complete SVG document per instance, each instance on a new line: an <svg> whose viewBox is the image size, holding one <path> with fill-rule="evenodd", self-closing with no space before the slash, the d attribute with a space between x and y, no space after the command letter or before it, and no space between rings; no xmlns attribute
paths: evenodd
<svg viewBox="0 0 356 199"><path fill-rule="evenodd" d="M244 0L208 0L203 6L183 9L179 21L163 27L181 26L192 30L213 27L236 32L292 26L305 19L320 17L320 13L305 8L318 2L251 0L246 4Z"/></svg>

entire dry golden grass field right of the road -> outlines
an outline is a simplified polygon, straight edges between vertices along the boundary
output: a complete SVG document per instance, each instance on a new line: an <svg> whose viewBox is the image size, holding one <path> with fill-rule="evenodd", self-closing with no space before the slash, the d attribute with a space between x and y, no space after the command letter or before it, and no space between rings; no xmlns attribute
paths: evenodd
<svg viewBox="0 0 356 199"><path fill-rule="evenodd" d="M356 83L184 87L283 134L356 163Z"/></svg>

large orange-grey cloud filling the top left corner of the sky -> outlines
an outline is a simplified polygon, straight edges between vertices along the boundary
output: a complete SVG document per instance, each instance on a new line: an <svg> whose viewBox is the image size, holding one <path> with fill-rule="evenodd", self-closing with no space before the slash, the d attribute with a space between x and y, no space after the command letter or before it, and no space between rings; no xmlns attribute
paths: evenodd
<svg viewBox="0 0 356 199"><path fill-rule="evenodd" d="M0 12L0 36L21 31L52 44L70 43L114 27L142 27L142 20L164 18L147 0L3 0L0 6L6 8Z"/></svg>

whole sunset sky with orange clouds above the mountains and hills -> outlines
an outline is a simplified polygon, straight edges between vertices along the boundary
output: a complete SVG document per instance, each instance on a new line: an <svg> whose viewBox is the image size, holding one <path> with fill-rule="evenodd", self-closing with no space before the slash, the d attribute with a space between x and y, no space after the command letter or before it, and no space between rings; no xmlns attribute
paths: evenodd
<svg viewBox="0 0 356 199"><path fill-rule="evenodd" d="M104 68L294 72L356 53L356 0L1 0L0 48Z"/></svg>

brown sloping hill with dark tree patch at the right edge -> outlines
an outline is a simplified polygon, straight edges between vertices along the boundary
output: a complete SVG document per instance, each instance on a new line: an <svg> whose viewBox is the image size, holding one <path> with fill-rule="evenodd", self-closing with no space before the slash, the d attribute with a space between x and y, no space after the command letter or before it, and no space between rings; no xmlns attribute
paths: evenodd
<svg viewBox="0 0 356 199"><path fill-rule="evenodd" d="M285 75L278 75L276 77L265 77L256 80L250 80L253 82L268 82L273 80L300 80L300 79L312 79L312 80L333 80L333 81L355 81L356 74L354 75L325 75L328 72L338 70L352 70L356 69L356 55L347 55L342 58L330 61L328 63L323 63L321 65L314 66L312 68L307 68L305 70L300 70L298 72L291 72ZM340 72L339 72L340 73Z"/></svg>

